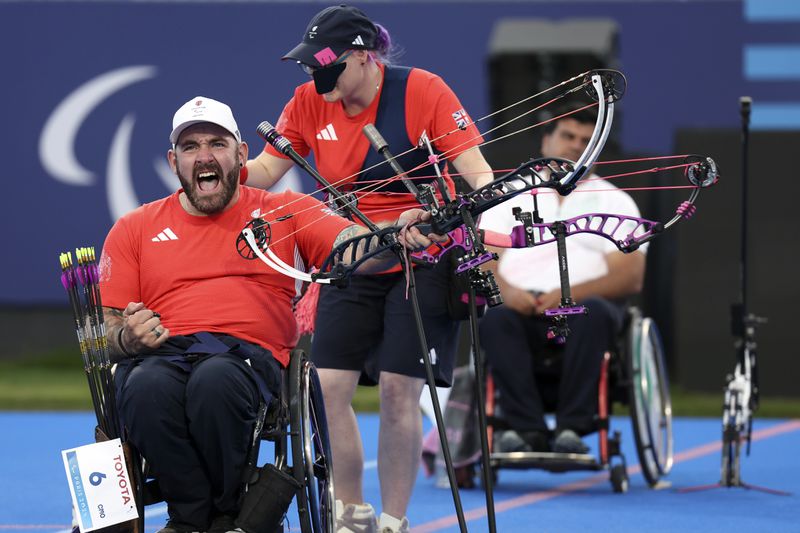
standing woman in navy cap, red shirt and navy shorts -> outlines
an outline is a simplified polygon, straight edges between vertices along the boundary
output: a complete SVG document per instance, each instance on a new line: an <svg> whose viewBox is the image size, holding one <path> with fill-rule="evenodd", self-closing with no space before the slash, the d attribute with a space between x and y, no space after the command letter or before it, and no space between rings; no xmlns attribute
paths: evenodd
<svg viewBox="0 0 800 533"><path fill-rule="evenodd" d="M314 153L322 176L354 190L358 208L375 222L397 218L416 200L397 181L372 192L394 173L387 164L372 168L382 159L362 133L367 124L376 126L395 154L417 146L425 133L472 187L492 180L478 148L482 138L453 91L435 74L388 64L391 48L386 29L357 8L340 5L317 13L302 42L283 57L297 61L313 80L297 87L276 125L298 153ZM427 161L422 149L399 159L405 170ZM267 145L248 161L247 184L271 187L291 166ZM417 174L430 181L433 172L427 167ZM452 194L446 166L444 174ZM457 322L447 309L449 273L444 264L417 272L434 372L438 384L449 385L457 337ZM409 334L415 331L411 313L399 268L352 279L347 289L325 286L320 294L311 358L319 368L328 413L339 531L378 526L363 498L364 452L351 407L362 371L380 387L380 530L408 530L405 514L419 467L425 377L418 339Z"/></svg>

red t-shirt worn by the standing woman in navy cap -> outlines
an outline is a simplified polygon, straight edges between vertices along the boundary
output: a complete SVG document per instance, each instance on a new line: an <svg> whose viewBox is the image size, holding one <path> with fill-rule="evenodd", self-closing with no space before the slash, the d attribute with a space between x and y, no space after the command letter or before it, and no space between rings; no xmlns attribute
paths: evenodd
<svg viewBox="0 0 800 533"><path fill-rule="evenodd" d="M378 63L378 66L383 72L383 65ZM366 124L375 123L380 91L367 109L351 117L341 102L325 102L313 82L305 83L286 104L276 129L303 157L313 151L317 171L331 183L356 181L355 174L361 171L367 151L372 149L362 130ZM461 152L483 142L474 125L459 129L459 125L470 122L469 117L450 87L435 74L417 68L411 70L405 109L406 131L412 145L417 144L423 131L430 139L449 133L434 146L452 161ZM285 158L270 144L264 150ZM434 174L433 169L430 173ZM452 180L447 175L445 180L452 193ZM419 205L407 193L358 193L358 197L358 208L374 221L395 220L401 212Z"/></svg>

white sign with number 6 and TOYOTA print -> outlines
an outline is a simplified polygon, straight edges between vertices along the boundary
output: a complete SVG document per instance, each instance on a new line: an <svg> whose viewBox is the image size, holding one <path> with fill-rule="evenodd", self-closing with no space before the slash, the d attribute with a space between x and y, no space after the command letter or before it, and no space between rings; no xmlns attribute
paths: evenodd
<svg viewBox="0 0 800 533"><path fill-rule="evenodd" d="M63 450L61 456L81 531L139 517L119 439Z"/></svg>

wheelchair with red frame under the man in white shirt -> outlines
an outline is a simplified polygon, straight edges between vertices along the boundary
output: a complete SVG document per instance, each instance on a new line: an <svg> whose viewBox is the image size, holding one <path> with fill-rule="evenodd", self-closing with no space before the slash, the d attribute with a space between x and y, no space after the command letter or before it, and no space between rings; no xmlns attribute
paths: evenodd
<svg viewBox="0 0 800 533"><path fill-rule="evenodd" d="M537 384L547 411L555 407L560 359L558 353L543 354L535 367ZM554 452L494 451L495 440L503 429L509 429L502 413L495 409L496 390L491 375L486 385L487 436L491 475L497 481L498 471L508 469L541 469L550 472L574 470L608 470L616 493L628 490L627 463L622 454L619 431L610 434L609 416L614 402L627 405L633 426L636 452L642 475L648 486L663 485L673 462L672 406L661 338L653 320L643 317L631 307L627 311L622 333L613 351L605 352L598 383L598 456L592 454ZM458 472L459 485L474 486L475 465Z"/></svg>

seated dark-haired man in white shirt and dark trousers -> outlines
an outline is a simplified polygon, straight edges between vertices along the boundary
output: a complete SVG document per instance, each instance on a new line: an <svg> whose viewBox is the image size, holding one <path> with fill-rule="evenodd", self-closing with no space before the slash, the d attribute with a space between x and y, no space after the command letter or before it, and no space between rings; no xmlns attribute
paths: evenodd
<svg viewBox="0 0 800 533"><path fill-rule="evenodd" d="M562 110L560 116L569 110ZM589 142L595 116L588 110L548 124L542 138L544 157L575 161ZM545 222L586 213L639 216L633 199L610 182L586 176L569 196L540 189L538 210ZM530 195L519 195L484 214L480 227L508 233L519 225L511 209L533 210ZM628 230L629 231L629 230ZM602 237L580 234L567 238L573 299L588 309L568 318L570 334L563 350L558 383L556 431L551 442L540 391L534 379L534 359L548 345L547 309L558 307L561 290L555 244L526 249L495 250L500 254L497 281L504 305L481 320L483 349L500 391L506 432L498 451L586 453L581 436L596 430L597 387L603 353L612 347L622 327L625 299L642 288L645 249L623 254Z"/></svg>

